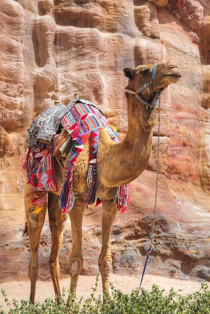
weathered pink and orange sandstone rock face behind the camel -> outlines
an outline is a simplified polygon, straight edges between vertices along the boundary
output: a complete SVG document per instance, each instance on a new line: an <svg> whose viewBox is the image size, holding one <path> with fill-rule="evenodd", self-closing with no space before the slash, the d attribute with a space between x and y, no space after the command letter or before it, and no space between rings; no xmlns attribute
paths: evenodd
<svg viewBox="0 0 210 314"><path fill-rule="evenodd" d="M148 269L166 276L210 279L210 5L208 0L2 0L0 2L1 280L27 276L24 225L24 135L54 100L75 91L98 104L126 133L127 78L122 68L177 63L182 78L161 97L160 168ZM147 169L131 183L130 205L111 236L113 271L137 273L149 247L156 187L157 127ZM129 170L128 170L129 171ZM98 272L102 208L83 220L83 274ZM69 273L71 228L60 253ZM40 278L50 278L51 236L44 225Z"/></svg>

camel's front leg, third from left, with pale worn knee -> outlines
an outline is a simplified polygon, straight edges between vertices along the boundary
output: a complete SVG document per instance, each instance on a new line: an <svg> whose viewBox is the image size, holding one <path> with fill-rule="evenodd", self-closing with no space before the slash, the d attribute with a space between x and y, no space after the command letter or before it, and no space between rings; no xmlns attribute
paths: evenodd
<svg viewBox="0 0 210 314"><path fill-rule="evenodd" d="M85 209L85 199L75 196L74 206L69 212L72 227L72 251L69 257L69 267L71 274L70 291L76 292L78 276L83 268L82 256L82 221ZM67 300L67 304L69 297Z"/></svg>

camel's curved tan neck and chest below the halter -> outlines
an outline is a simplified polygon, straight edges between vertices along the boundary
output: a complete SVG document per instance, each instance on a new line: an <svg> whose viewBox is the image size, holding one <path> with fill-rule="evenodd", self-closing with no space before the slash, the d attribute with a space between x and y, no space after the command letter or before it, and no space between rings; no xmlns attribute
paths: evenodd
<svg viewBox="0 0 210 314"><path fill-rule="evenodd" d="M157 123L157 111L146 109L135 95L127 98L128 129L122 142L107 141L101 129L101 149L98 149L97 187L103 176L103 186L117 187L135 180L147 167L152 149L152 129ZM107 171L109 169L109 171Z"/></svg>

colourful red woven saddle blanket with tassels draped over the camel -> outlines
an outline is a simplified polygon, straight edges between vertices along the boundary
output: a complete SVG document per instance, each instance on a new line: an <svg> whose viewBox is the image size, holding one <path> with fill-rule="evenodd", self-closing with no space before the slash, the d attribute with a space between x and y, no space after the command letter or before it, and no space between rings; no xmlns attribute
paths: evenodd
<svg viewBox="0 0 210 314"><path fill-rule="evenodd" d="M112 126L110 126L108 119L102 114L101 111L97 109L96 106L91 106L91 103L87 101L83 101L81 99L78 99L76 104L73 106L73 108L68 111L60 120L62 123L62 126L64 127L63 132L67 131L70 136L72 136L73 139L73 146L71 149L71 154L68 160L67 169L66 169L66 175L65 175L65 181L63 182L60 197L59 197L59 205L61 208L62 213L67 213L71 210L74 204L74 194L73 194L73 165L75 164L78 155L83 150L83 147L88 140L89 136L91 137L90 140L90 153L89 153L89 169L88 169L88 176L87 176L87 183L89 186L89 194L87 196L87 199L85 201L86 205L94 205L97 206L101 203L100 198L96 198L96 184L95 184L95 175L96 175L96 156L97 156L97 147L98 147L98 140L100 135L100 127L105 127L108 135L114 142L119 142L117 138L116 129ZM90 135L91 134L91 135ZM58 135L56 134L54 138L52 139L49 145L49 148L51 148L51 154L53 152L53 147L55 146L55 143L57 141ZM26 158L26 164L28 165L30 163L30 158L34 157L32 156L31 151L34 149L34 146L29 148L27 158ZM37 153L36 153L37 154ZM38 157L38 155L37 155ZM39 156L40 157L40 156ZM28 160L27 160L28 159ZM53 157L51 159L53 162ZM40 161L41 162L41 161ZM42 157L42 163L46 164L46 158ZM47 165L50 165L49 162ZM51 172L52 169L54 169L54 165L51 166ZM27 169L28 166L25 166ZM33 172L33 176L38 178L38 174L36 173L37 167L33 167L33 171L28 171L28 183L30 184L31 188L34 191L34 193L30 193L28 196L35 196L32 203L35 203L37 205L37 208L35 209L34 213L37 214L40 212L40 210L43 207L43 203L46 201L46 192L47 190L57 190L57 186L49 187L49 185L44 186L43 189L40 187L40 182L32 182L31 176L29 174ZM40 167L39 167L40 168ZM41 168L43 169L43 167ZM46 169L46 171L49 171L49 169ZM30 172L30 173L29 173ZM54 182L53 178L54 176L52 173L50 173L51 179ZM43 176L40 175L40 178ZM46 175L44 175L46 177ZM30 179L30 180L29 180ZM38 179L39 181L39 179ZM39 190L38 188L39 187ZM37 191L38 190L38 191ZM37 199L37 196L41 195L41 192L44 193L44 197ZM116 195L114 196L114 203L115 207L118 208L121 213L123 213L129 202L129 185L123 185L116 188Z"/></svg>

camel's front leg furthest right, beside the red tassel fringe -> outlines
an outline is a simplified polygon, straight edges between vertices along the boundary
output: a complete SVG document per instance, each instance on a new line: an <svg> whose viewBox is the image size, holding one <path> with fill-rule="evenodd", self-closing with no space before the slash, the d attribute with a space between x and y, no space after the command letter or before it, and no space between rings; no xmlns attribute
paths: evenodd
<svg viewBox="0 0 210 314"><path fill-rule="evenodd" d="M105 291L107 291L109 294L109 275L112 264L110 252L110 236L118 209L115 208L113 200L102 200L102 205L102 246L98 264L102 279L103 294Z"/></svg>

